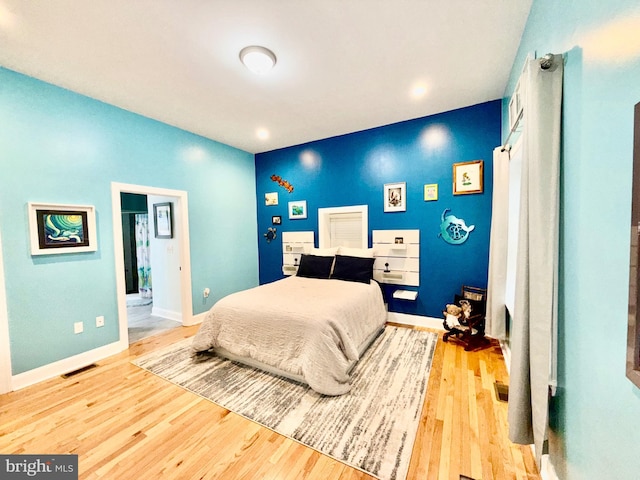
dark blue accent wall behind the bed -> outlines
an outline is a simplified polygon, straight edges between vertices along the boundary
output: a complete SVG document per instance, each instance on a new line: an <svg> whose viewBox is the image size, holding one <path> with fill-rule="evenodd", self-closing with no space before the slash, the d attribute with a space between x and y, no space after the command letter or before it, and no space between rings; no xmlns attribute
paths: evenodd
<svg viewBox="0 0 640 480"><path fill-rule="evenodd" d="M282 242L263 234L280 215L278 232L315 232L318 208L369 206L371 230L420 230L420 287L416 302L390 301L395 312L440 318L461 285L486 287L491 226L493 148L500 144L501 101L387 125L256 155L260 283L282 278ZM453 164L484 160L484 192L453 195ZM278 175L293 185L289 193ZM383 212L385 183L406 182L406 212ZM425 202L425 184L437 183L439 198ZM278 192L277 206L266 206L265 193ZM306 200L308 216L288 219L288 202ZM438 238L444 209L475 225L462 245ZM390 290L397 287L387 288Z"/></svg>

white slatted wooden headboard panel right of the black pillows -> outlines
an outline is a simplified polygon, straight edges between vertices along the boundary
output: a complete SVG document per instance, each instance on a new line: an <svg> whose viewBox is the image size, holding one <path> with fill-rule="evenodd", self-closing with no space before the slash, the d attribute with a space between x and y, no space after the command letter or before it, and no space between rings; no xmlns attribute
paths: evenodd
<svg viewBox="0 0 640 480"><path fill-rule="evenodd" d="M372 236L373 278L380 283L420 286L420 230L373 230Z"/></svg>

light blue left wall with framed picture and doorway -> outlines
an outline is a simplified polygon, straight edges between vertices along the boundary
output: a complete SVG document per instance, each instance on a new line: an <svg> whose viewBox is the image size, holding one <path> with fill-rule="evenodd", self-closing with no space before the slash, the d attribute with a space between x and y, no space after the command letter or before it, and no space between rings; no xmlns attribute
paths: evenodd
<svg viewBox="0 0 640 480"><path fill-rule="evenodd" d="M118 340L112 181L188 192L194 313L258 283L252 154L1 68L0 125L13 374ZM31 256L29 201L94 205L98 251Z"/></svg>

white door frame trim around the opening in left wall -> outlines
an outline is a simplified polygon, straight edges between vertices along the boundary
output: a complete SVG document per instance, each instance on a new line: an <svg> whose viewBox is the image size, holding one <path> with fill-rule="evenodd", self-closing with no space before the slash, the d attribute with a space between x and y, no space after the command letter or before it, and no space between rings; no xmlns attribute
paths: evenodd
<svg viewBox="0 0 640 480"><path fill-rule="evenodd" d="M158 195L176 198L177 231L180 250L180 299L182 303L182 325L193 325L193 299L191 296L191 250L189 242L189 205L187 192L166 188L132 185L111 182L111 203L113 212L113 244L116 268L116 291L118 296L118 324L120 327L120 345L122 349L129 347L127 325L127 287L124 272L124 243L122 239L122 205L120 193L137 193L140 195Z"/></svg>

